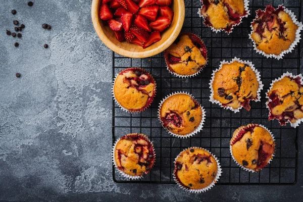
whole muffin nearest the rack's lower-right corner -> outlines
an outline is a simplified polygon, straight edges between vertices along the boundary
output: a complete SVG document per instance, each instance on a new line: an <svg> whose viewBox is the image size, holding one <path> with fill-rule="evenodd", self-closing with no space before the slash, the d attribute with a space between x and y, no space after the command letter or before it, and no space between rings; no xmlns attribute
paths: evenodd
<svg viewBox="0 0 303 202"><path fill-rule="evenodd" d="M259 171L273 158L275 141L262 125L248 124L235 130L230 140L233 159L245 170Z"/></svg>

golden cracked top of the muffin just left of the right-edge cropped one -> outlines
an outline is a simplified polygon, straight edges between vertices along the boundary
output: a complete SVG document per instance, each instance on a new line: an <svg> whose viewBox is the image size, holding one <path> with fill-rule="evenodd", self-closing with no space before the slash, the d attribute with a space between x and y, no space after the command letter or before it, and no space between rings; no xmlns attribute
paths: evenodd
<svg viewBox="0 0 303 202"><path fill-rule="evenodd" d="M249 111L249 100L258 97L259 82L255 72L248 65L236 61L222 65L215 73L212 86L213 98L223 107L238 109L243 106Z"/></svg>

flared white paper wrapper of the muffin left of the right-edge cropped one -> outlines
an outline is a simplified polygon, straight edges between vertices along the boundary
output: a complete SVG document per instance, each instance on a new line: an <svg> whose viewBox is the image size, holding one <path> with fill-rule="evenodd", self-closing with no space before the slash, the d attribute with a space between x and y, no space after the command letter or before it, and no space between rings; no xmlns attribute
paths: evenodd
<svg viewBox="0 0 303 202"><path fill-rule="evenodd" d="M258 80L258 83L259 83L259 88L258 88L258 90L257 90L257 97L256 97L255 99L250 99L250 100L255 100L255 102L260 102L260 101L261 101L261 95L260 95L260 94L261 94L261 90L263 89L263 86L264 86L264 85L262 84L262 81L261 81L260 72L258 72L258 70L254 67L254 65L253 65L251 62L246 61L246 60L245 60L245 61L242 61L242 60L240 60L240 59L238 59L238 58L236 58L236 57L235 57L234 59L232 59L230 62L225 61L225 60L223 60L223 62L220 62L221 64L220 64L219 68L213 71L212 79L211 79L211 81L210 81L210 83L209 83L210 88L211 88L210 102L212 102L213 104L216 103L216 104L220 105L220 107L222 107L222 108L224 108L224 109L229 109L229 110L233 111L234 113L237 113L237 112L240 111L240 109L243 108L243 106L241 106L241 107L239 107L239 108L237 108L237 109L233 109L233 108L230 107L230 106L223 106L223 105L219 102L219 100L214 99L214 89L213 89L213 82L214 82L214 79L215 79L215 74L222 68L222 66L223 66L224 64L231 64L231 63L233 63L233 62L238 62L238 63L242 63L242 64L248 65L248 66L252 69L252 71L254 71L255 74L256 74L256 77L257 77L257 80ZM249 104L249 105L250 105L250 104Z"/></svg>

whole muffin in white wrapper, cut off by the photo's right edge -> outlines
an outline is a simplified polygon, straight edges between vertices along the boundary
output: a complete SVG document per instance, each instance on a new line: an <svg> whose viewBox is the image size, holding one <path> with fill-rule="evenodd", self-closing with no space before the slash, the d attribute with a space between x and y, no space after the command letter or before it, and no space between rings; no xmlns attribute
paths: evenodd
<svg viewBox="0 0 303 202"><path fill-rule="evenodd" d="M271 84L267 92L269 120L278 119L280 125L290 122L296 127L303 121L303 82L301 75L283 74Z"/></svg>

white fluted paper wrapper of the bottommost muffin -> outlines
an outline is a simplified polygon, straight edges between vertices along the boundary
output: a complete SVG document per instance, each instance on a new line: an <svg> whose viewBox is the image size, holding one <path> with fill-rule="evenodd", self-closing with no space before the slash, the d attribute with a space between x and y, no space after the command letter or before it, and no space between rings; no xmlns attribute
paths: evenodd
<svg viewBox="0 0 303 202"><path fill-rule="evenodd" d="M220 166L220 163L219 163L218 158L217 158L215 155L213 155L209 150L207 150L207 149L205 149L205 148L201 148L201 147L189 147L189 148L186 148L186 149L184 149L183 151L181 151L180 154L175 158L174 166L176 165L176 161L177 161L177 159L180 157L180 155L181 155L184 151L186 151L187 149L192 149L192 148L193 148L193 149L203 149L203 150L207 151L208 153L210 153L210 154L215 158L215 160L216 160L216 162L217 162L217 168L218 168L218 169L217 169L217 174L216 174L215 180L214 180L210 185L208 185L208 186L205 187L205 188L201 188L201 189L189 189L189 188L187 188L187 187L182 186L182 184L177 180L177 178L176 178L176 173L175 173L175 169L174 169L174 172L173 172L173 177L174 177L174 180L175 180L175 181L177 182L177 184L179 185L179 187L181 187L182 189L184 189L184 190L186 190L186 191L189 191L189 192L192 192L192 193L205 192L205 191L211 189L213 186L215 186L215 183L218 182L218 180L219 180L219 178L220 178L220 176L221 176L221 174L222 174L222 169L221 169L221 166Z"/></svg>

